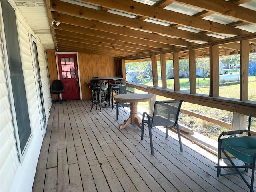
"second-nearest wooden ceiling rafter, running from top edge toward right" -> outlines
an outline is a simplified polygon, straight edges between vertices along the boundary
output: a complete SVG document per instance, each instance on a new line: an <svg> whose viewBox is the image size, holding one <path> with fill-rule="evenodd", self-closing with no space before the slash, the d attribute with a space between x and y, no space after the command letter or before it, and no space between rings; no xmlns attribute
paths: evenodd
<svg viewBox="0 0 256 192"><path fill-rule="evenodd" d="M227 26L217 22L209 22L195 16L190 16L170 10L165 10L155 6L146 5L140 2L125 0L116 3L114 0L82 0L84 2L90 2L92 4L97 4L99 6L106 6L109 8L114 8L117 10L122 10L125 12L130 12L132 14L137 14L140 16L145 16L148 18L158 19L166 22L171 22L175 24L180 24L182 26L189 26L192 28L205 30L208 32L215 33L227 33L234 35L247 34L249 32L234 28L232 26ZM201 2L201 1L198 1ZM198 3L200 4L200 3Z"/></svg>

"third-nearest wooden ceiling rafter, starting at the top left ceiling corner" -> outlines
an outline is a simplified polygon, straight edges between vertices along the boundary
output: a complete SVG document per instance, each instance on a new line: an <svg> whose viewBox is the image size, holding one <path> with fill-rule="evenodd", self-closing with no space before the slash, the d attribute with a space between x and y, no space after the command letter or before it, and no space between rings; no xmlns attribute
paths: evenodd
<svg viewBox="0 0 256 192"><path fill-rule="evenodd" d="M130 28L136 28L139 30L142 29L148 32L170 35L170 36L187 39L187 40L201 40L206 42L218 40L218 38L205 36L205 35L197 34L193 32L188 32L188 31L180 30L176 28L171 28L168 26L162 26L162 25L154 24L150 22L140 21L137 19L120 16L117 14L103 12L101 10L95 10L95 9L90 9L82 6L76 6L76 5L69 4L66 2L61 2L61 1L52 1L52 2L53 2L52 7L54 8L54 10L62 13L66 12L69 14L80 15L80 16L84 16L84 17L91 18L98 21L110 22L113 24L118 24L118 25L130 27ZM98 2L98 1L95 1L95 2ZM124 1L120 1L120 2L124 2Z"/></svg>

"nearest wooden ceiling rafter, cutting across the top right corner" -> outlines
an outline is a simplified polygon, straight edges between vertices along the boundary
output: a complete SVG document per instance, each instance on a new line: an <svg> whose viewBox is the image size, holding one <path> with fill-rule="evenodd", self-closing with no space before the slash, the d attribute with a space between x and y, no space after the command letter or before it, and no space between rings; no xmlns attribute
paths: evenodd
<svg viewBox="0 0 256 192"><path fill-rule="evenodd" d="M242 6L238 6L232 2L224 1L224 0L175 0L179 3L188 4L190 6L202 8L204 10L230 16L237 20L242 20L244 22L248 22L251 24L256 23L256 11L244 8Z"/></svg>

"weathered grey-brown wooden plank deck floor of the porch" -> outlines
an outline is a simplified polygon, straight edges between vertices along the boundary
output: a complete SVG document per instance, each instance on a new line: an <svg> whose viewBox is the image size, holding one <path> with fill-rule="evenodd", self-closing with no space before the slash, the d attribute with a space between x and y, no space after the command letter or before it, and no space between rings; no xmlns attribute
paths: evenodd
<svg viewBox="0 0 256 192"><path fill-rule="evenodd" d="M216 156L177 135L153 130L154 156L148 128L118 126L128 112L92 110L90 100L52 105L38 160L33 192L245 192L237 175L216 177ZM250 175L250 171L248 173ZM246 176L250 180L249 176Z"/></svg>

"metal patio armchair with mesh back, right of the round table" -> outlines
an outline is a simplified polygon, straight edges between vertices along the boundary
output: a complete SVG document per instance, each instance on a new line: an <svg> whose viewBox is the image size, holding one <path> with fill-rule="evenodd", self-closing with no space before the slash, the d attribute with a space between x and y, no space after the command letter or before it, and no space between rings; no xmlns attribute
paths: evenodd
<svg viewBox="0 0 256 192"><path fill-rule="evenodd" d="M152 128L166 128L165 138L168 137L169 128L176 128L178 132L178 138L180 143L180 152L183 151L180 128L178 124L178 117L180 114L180 108L183 100L172 100L172 101L156 101L154 105L153 116L146 112L142 115L142 128L141 128L141 139L144 136L144 124L148 124L149 138L150 138L150 149L151 154L154 154L153 140L152 140ZM147 119L146 119L147 118Z"/></svg>

